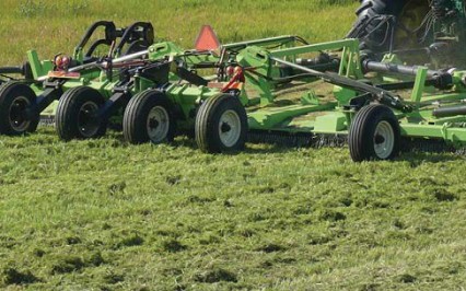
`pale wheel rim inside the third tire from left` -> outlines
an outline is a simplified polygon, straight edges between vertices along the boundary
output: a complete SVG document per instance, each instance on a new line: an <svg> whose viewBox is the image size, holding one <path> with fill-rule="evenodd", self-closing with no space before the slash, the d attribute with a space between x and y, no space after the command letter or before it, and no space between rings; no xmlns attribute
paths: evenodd
<svg viewBox="0 0 466 291"><path fill-rule="evenodd" d="M155 106L149 112L147 129L149 139L153 143L160 143L166 139L170 129L170 117L164 107Z"/></svg>

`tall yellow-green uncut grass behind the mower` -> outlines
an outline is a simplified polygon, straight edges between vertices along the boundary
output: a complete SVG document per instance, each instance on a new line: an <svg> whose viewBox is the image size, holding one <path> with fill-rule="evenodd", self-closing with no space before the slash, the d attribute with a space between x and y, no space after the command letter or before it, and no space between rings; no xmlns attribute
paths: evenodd
<svg viewBox="0 0 466 291"><path fill-rule="evenodd" d="M96 20L117 26L151 21L156 37L191 48L201 25L211 24L223 43L299 34L311 42L342 38L353 22L354 1L334 0L3 0L0 65L16 65L36 48L51 58L71 54ZM338 3L348 3L345 5Z"/></svg>

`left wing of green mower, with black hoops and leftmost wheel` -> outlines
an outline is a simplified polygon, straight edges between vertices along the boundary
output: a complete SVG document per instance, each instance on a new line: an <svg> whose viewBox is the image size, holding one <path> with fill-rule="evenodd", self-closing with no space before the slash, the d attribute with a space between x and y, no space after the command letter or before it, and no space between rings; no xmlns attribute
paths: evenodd
<svg viewBox="0 0 466 291"><path fill-rule="evenodd" d="M104 30L104 37L94 40L84 50L90 39ZM118 40L118 44L116 42ZM137 22L127 28L116 28L113 22L100 21L91 25L75 47L73 56L57 55L53 60L40 61L35 50L27 51L28 62L21 70L24 78L14 80L10 77L0 89L0 133L22 135L35 131L40 117L47 119L55 112L56 101L81 82L92 79L105 79L106 74L88 63L101 61L145 49L153 43L153 27L150 23ZM102 49L110 53L105 57ZM84 67L83 67L84 66ZM4 73L19 73L14 68L3 68ZM2 71L2 69L0 69ZM48 107L48 108L47 108Z"/></svg>

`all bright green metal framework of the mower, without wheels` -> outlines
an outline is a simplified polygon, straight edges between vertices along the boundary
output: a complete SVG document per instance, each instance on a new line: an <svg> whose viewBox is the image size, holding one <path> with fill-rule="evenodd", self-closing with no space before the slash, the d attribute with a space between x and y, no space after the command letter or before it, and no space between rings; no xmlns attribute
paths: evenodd
<svg viewBox="0 0 466 291"><path fill-rule="evenodd" d="M278 83L275 81L280 77L280 68L273 59L295 61L300 56L306 57L321 51L334 51L338 53L340 59L339 75L353 80L364 80L359 55L359 40L343 39L313 45L296 45L295 40L294 36L281 36L229 44L224 45L217 55L190 54L191 51L183 50L174 43L165 42L151 46L148 56L149 60L153 62L163 59L180 61L186 63L187 68L200 63L220 66L233 59L244 69L245 85L238 96L247 108L248 125L252 130L347 135L351 120L357 113L348 105L359 93L356 90L335 85L334 98L321 100L316 97L314 90L310 89L302 94L301 103L280 106L276 98ZM273 48L277 45L280 45L280 47ZM35 51L30 51L28 57L35 78L44 75L50 69L50 63L39 61ZM386 56L384 61L399 62L395 55ZM222 94L222 92L219 86L195 86L179 82L174 72L170 74L172 82L167 88L164 88L164 92L179 109L178 126L182 129L191 129L194 116L202 101ZM424 67L418 68L415 78L378 74L374 81L393 82L398 78L415 81L410 98L405 100L405 103L412 105L413 112L406 113L394 109L404 137L442 139L459 147L466 143L466 117L436 118L432 115L434 108L432 104L438 102L454 105L466 100L465 75L466 71L455 72L452 90L434 93L431 88L424 85L428 79L428 69ZM132 95L158 86L152 80L140 75L135 75L133 80L135 85L130 89ZM306 82L314 82L316 78L312 75L305 79ZM63 90L88 85L98 90L108 98L117 83L117 81L107 80L105 73L97 69L89 71L79 80L68 81Z"/></svg>

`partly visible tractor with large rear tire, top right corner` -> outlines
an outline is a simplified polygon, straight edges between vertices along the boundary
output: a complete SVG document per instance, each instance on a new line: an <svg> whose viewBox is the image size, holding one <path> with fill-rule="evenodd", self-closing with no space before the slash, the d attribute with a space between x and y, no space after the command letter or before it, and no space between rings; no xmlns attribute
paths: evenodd
<svg viewBox="0 0 466 291"><path fill-rule="evenodd" d="M406 62L466 65L464 0L363 0L348 38L361 40L362 55L396 54Z"/></svg>

